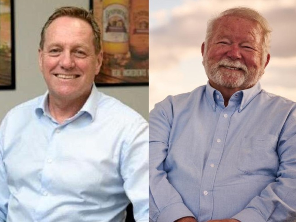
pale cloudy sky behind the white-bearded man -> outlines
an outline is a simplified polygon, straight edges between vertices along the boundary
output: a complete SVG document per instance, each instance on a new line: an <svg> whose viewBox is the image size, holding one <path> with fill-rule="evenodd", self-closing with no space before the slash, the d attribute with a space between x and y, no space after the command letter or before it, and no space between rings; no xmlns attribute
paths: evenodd
<svg viewBox="0 0 296 222"><path fill-rule="evenodd" d="M295 0L150 0L149 110L207 83L200 49L207 20L235 6L257 9L273 29L262 88L296 101Z"/></svg>

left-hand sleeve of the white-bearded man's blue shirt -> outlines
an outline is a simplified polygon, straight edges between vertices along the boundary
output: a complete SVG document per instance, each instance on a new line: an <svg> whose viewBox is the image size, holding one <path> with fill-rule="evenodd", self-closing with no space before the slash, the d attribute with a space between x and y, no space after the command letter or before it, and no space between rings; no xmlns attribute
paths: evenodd
<svg viewBox="0 0 296 222"><path fill-rule="evenodd" d="M165 110L166 107L168 110ZM157 222L173 222L193 213L180 194L169 183L164 161L169 148L173 112L168 99L156 104L149 114L149 218Z"/></svg>

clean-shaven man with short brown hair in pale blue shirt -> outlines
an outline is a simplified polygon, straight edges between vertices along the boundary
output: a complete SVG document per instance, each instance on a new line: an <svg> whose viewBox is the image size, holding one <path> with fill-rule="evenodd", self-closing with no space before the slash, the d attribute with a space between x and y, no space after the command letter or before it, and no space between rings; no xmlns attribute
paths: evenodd
<svg viewBox="0 0 296 222"><path fill-rule="evenodd" d="M100 30L84 9L44 25L39 65L48 92L0 128L0 221L148 221L148 124L97 91Z"/></svg>

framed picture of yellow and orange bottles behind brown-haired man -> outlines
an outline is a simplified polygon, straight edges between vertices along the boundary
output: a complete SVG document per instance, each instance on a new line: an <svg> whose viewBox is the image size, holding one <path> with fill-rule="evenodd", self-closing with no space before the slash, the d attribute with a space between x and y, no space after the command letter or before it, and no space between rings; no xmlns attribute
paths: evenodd
<svg viewBox="0 0 296 222"><path fill-rule="evenodd" d="M149 0L90 0L101 29L103 64L96 86L149 83Z"/></svg>

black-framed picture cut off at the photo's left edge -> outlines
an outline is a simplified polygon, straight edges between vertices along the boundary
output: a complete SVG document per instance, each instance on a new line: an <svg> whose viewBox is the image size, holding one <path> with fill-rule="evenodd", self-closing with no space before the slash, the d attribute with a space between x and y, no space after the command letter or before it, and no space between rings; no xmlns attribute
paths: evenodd
<svg viewBox="0 0 296 222"><path fill-rule="evenodd" d="M13 0L0 0L0 89L15 89Z"/></svg>

